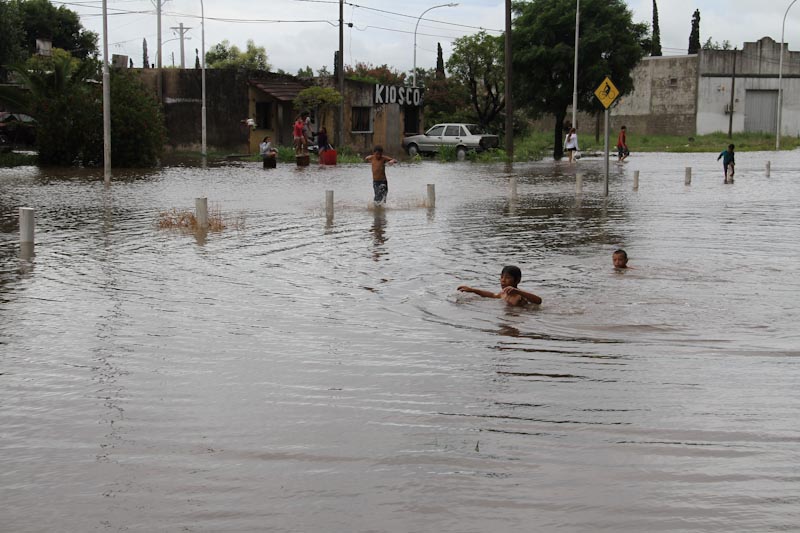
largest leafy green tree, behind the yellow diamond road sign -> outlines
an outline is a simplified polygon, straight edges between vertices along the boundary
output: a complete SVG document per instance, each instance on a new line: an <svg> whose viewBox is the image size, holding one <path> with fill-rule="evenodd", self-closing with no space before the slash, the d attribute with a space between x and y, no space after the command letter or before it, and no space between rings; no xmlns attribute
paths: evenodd
<svg viewBox="0 0 800 533"><path fill-rule="evenodd" d="M553 157L564 155L562 129L572 103L575 2L532 0L515 5L512 47L515 99L555 118ZM621 94L645 54L647 24L636 24L624 0L583 0L578 49L578 108L600 111L594 90L610 76Z"/></svg>

